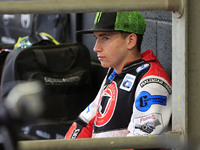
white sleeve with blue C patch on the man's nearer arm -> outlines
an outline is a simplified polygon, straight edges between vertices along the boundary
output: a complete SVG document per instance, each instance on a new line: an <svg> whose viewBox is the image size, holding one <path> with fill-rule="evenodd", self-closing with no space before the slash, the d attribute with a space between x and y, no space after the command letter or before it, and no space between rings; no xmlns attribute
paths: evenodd
<svg viewBox="0 0 200 150"><path fill-rule="evenodd" d="M158 76L142 79L135 92L128 136L162 134L171 117L171 86Z"/></svg>

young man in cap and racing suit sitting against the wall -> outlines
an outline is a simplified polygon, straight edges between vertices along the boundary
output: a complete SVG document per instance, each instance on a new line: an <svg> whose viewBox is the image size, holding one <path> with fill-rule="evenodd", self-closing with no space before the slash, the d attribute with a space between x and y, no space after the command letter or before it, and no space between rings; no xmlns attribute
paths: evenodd
<svg viewBox="0 0 200 150"><path fill-rule="evenodd" d="M162 134L171 116L171 81L152 50L140 54L145 20L137 11L98 12L94 51L109 68L95 100L66 139Z"/></svg>

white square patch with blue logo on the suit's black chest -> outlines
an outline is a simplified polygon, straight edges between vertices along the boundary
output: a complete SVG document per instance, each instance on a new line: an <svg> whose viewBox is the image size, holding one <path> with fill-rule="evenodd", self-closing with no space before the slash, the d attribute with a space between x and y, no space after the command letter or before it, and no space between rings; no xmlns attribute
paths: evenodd
<svg viewBox="0 0 200 150"><path fill-rule="evenodd" d="M126 74L124 77L122 84L120 85L120 89L123 89L125 91L130 91L133 87L133 84L135 82L135 76L131 74Z"/></svg>

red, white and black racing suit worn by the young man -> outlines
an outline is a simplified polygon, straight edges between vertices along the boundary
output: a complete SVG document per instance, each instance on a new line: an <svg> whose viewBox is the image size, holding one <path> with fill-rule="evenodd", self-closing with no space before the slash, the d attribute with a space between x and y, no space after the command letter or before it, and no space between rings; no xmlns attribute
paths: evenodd
<svg viewBox="0 0 200 150"><path fill-rule="evenodd" d="M147 50L120 74L109 69L96 98L65 138L162 134L171 117L171 94L170 78L152 50Z"/></svg>

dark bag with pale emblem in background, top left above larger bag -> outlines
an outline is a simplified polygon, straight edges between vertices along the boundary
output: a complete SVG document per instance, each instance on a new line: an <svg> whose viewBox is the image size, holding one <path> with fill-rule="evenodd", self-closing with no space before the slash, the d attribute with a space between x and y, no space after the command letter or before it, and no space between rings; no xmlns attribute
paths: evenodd
<svg viewBox="0 0 200 150"><path fill-rule="evenodd" d="M19 37L46 32L58 42L71 40L70 14L16 14L0 15L0 39L2 43L16 43Z"/></svg>

